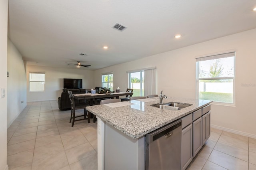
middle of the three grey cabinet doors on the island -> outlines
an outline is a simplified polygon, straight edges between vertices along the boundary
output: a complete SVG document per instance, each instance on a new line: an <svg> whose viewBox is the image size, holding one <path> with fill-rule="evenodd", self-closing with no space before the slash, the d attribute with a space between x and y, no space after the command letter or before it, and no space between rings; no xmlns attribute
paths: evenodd
<svg viewBox="0 0 256 170"><path fill-rule="evenodd" d="M193 158L202 148L202 117L193 122Z"/></svg>

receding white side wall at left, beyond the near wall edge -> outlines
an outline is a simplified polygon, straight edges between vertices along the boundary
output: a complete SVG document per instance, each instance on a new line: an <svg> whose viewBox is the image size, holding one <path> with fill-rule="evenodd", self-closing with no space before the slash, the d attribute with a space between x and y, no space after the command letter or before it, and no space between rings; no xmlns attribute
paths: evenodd
<svg viewBox="0 0 256 170"><path fill-rule="evenodd" d="M7 71L9 72L9 77L7 78L7 127L10 127L27 105L27 84L22 55L9 39L7 49Z"/></svg>

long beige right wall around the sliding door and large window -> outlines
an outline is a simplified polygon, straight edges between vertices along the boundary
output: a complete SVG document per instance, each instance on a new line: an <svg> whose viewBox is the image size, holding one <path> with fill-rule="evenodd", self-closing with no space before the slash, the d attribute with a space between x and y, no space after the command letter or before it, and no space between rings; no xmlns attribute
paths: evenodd
<svg viewBox="0 0 256 170"><path fill-rule="evenodd" d="M209 33L210 34L210 33ZM256 138L256 29L190 45L94 72L95 83L101 74L113 71L114 89L125 91L128 70L156 66L156 92L164 90L168 97L196 97L196 57L236 49L235 106L212 104L211 123L214 127ZM254 84L246 87L242 84Z"/></svg>

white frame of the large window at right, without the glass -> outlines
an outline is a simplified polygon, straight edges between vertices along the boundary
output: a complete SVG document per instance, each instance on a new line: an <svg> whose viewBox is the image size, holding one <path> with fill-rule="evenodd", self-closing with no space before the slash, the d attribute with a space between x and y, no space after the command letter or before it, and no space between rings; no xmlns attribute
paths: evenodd
<svg viewBox="0 0 256 170"><path fill-rule="evenodd" d="M204 61L206 60L211 60L212 59L218 59L218 58L225 58L225 55L228 53L234 53L234 76L233 77L207 77L207 78L200 78L199 77L199 62L198 59L200 58L209 58L209 59L204 59ZM221 56L223 55L223 57L217 57L214 58L214 56ZM200 80L233 80L233 103L226 103L226 102L220 102L220 101L213 101L213 104L218 104L218 105L230 105L230 106L234 106L235 105L235 73L236 73L236 50L232 50L232 51L226 51L226 52L222 52L222 53L217 53L217 54L213 54L213 55L207 55L207 56L202 56L202 57L198 57L196 58L196 99L199 99L199 81Z"/></svg>

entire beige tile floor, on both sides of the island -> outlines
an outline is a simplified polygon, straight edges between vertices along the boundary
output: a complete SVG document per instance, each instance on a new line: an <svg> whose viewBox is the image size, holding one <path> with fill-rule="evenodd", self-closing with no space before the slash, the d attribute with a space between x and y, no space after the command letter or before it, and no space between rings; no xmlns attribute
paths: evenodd
<svg viewBox="0 0 256 170"><path fill-rule="evenodd" d="M9 169L96 170L97 123L69 119L58 101L28 103L7 130ZM226 169L256 170L256 139L211 128L187 170Z"/></svg>

